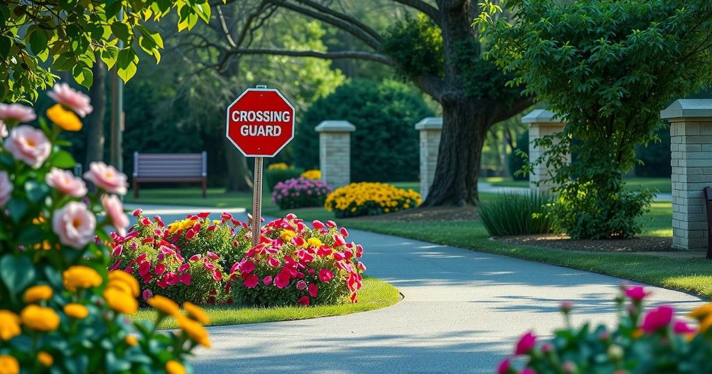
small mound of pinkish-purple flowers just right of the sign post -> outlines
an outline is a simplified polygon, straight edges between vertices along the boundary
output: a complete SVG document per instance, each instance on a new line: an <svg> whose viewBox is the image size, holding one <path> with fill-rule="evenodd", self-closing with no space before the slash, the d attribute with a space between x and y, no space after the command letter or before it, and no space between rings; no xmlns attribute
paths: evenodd
<svg viewBox="0 0 712 374"><path fill-rule="evenodd" d="M305 177L279 182L272 191L272 202L279 209L323 207L332 188L320 180Z"/></svg>

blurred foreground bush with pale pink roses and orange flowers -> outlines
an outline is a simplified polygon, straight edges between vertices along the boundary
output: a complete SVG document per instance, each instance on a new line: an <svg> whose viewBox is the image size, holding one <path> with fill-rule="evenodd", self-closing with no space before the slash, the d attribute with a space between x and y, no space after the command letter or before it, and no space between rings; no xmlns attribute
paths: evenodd
<svg viewBox="0 0 712 374"><path fill-rule="evenodd" d="M66 85L51 93L51 124L32 108L0 104L0 371L2 373L184 373L197 344L209 346L200 311L150 298L158 321L129 323L140 288L124 271L108 271L106 227L125 229L117 194L126 176L95 162L84 175L65 169L62 130L79 130L92 111L88 98ZM97 214L101 214L100 218ZM156 331L168 315L178 331Z"/></svg>

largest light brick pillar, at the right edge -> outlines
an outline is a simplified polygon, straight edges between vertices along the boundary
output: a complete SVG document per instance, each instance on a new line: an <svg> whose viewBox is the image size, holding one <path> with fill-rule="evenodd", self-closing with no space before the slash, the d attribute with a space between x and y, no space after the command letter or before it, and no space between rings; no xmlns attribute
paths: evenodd
<svg viewBox="0 0 712 374"><path fill-rule="evenodd" d="M706 249L702 189L712 186L712 100L676 100L660 118L670 122L672 245Z"/></svg>

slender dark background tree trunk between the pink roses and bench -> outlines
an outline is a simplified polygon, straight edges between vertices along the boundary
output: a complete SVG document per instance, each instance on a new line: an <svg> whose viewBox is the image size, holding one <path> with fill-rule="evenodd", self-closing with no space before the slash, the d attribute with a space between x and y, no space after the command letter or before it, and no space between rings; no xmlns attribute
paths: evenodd
<svg viewBox="0 0 712 374"><path fill-rule="evenodd" d="M96 59L92 72L94 73L94 84L89 90L89 97L94 110L88 116L85 125L87 129L85 169L89 167L90 162L104 160L104 113L106 111L104 81L106 78L106 66L100 58Z"/></svg>

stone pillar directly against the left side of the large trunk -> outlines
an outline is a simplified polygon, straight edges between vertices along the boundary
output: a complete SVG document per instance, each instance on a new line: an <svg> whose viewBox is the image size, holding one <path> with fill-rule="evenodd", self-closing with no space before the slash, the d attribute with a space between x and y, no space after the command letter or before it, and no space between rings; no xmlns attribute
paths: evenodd
<svg viewBox="0 0 712 374"><path fill-rule="evenodd" d="M420 196L425 201L428 189L433 185L435 177L440 135L443 132L443 119L441 117L423 118L415 125L415 129L420 132Z"/></svg>

